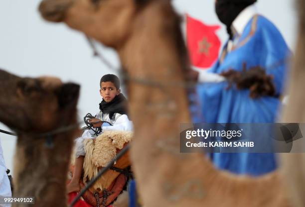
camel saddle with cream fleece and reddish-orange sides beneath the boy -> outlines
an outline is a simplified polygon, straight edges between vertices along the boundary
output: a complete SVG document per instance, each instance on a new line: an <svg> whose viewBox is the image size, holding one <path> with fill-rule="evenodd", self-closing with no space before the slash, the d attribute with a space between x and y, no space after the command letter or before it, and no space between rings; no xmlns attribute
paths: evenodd
<svg viewBox="0 0 305 207"><path fill-rule="evenodd" d="M80 181L81 190L106 167L133 137L131 131L105 131L96 139L84 140L84 176ZM111 169L83 195L90 205L107 207L126 189L130 177L131 162L129 152L123 155Z"/></svg>

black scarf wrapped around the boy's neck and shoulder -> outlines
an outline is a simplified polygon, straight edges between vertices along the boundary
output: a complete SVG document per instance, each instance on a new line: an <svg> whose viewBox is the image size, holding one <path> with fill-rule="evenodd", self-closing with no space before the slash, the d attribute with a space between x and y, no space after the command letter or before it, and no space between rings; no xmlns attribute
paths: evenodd
<svg viewBox="0 0 305 207"><path fill-rule="evenodd" d="M127 113L127 99L123 94L116 96L111 102L107 103L104 100L100 103L100 110L103 113L109 113L109 118L114 120L114 113Z"/></svg>

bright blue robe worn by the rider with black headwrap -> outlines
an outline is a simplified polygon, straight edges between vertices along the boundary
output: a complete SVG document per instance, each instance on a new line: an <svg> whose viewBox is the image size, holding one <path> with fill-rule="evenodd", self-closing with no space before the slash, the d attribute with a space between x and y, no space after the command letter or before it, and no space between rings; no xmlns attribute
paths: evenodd
<svg viewBox="0 0 305 207"><path fill-rule="evenodd" d="M226 48L226 46L225 46ZM236 47L220 57L210 72L220 74L229 69L242 71L261 66L273 75L276 95L281 96L287 79L287 58L291 52L279 30L268 19L255 15L246 25ZM223 60L221 60L223 58ZM227 89L228 83L202 84L197 87L201 113L208 123L275 122L280 100L265 96L251 99L249 90ZM262 175L276 169L274 154L213 153L217 168L237 174Z"/></svg>

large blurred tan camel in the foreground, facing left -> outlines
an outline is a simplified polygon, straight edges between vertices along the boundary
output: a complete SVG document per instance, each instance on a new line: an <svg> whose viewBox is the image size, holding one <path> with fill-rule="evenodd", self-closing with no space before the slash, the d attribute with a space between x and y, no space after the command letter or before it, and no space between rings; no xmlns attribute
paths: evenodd
<svg viewBox="0 0 305 207"><path fill-rule="evenodd" d="M46 20L115 48L132 77L130 153L145 207L291 206L278 171L236 176L216 170L202 154L179 152L179 124L191 122L190 92L181 84L189 69L170 0L42 0L39 10Z"/></svg>

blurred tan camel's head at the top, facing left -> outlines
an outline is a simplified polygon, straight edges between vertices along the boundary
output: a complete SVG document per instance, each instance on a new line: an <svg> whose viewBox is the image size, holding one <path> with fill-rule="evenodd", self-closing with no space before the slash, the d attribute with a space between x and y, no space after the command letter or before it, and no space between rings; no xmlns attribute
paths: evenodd
<svg viewBox="0 0 305 207"><path fill-rule="evenodd" d="M63 21L107 46L119 48L132 33L141 10L151 1L43 0L39 11L46 20Z"/></svg>

